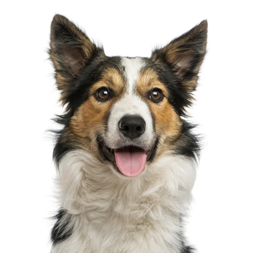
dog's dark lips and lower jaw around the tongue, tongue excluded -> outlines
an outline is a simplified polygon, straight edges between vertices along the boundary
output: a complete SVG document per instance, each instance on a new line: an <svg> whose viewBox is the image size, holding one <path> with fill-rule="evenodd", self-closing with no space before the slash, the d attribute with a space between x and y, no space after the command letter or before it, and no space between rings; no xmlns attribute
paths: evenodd
<svg viewBox="0 0 256 253"><path fill-rule="evenodd" d="M99 153L101 158L103 159L103 162L108 162L110 163L111 169L113 170L113 172L119 176L121 176L122 178L133 178L134 176L127 176L124 173L122 173L122 171L119 169L117 162L116 162L116 156L115 156L115 152L122 152L124 150L128 150L130 152L144 152L146 154L146 163L150 162L153 160L154 155L156 153L156 148L157 148L157 140L154 142L154 144L152 145L152 147L150 149L143 149L142 147L135 147L135 146L124 146L121 147L119 149L112 149L110 147L108 147L105 143L104 140L99 139L98 138L98 148L99 148ZM139 174L141 175L142 173L144 173L145 167L143 168L143 171ZM138 175L136 175L138 176Z"/></svg>

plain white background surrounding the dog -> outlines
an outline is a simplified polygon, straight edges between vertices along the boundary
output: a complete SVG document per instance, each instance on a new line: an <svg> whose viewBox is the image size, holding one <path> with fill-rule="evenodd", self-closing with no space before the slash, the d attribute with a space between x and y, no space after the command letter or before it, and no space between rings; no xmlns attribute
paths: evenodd
<svg viewBox="0 0 256 253"><path fill-rule="evenodd" d="M256 40L253 1L5 1L0 10L0 252L48 253L60 113L48 59L55 13L105 53L147 56L201 20L208 54L190 110L204 150L187 224L198 253L256 252Z"/></svg>

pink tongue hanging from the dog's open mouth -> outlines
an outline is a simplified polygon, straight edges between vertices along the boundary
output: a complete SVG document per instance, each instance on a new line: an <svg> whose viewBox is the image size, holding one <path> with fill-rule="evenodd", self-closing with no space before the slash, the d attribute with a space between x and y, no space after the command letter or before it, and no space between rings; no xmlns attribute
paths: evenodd
<svg viewBox="0 0 256 253"><path fill-rule="evenodd" d="M119 170L128 177L135 177L143 172L147 155L144 150L116 150L116 164Z"/></svg>

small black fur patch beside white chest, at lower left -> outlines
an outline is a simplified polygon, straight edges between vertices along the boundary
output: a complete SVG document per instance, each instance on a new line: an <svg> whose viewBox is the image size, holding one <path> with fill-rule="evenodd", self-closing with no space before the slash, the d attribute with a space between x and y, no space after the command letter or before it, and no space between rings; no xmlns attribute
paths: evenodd
<svg viewBox="0 0 256 253"><path fill-rule="evenodd" d="M57 244L72 235L73 226L70 226L71 214L67 210L59 210L58 214L54 216L54 219L57 219L57 221L52 228L51 240L53 244Z"/></svg>

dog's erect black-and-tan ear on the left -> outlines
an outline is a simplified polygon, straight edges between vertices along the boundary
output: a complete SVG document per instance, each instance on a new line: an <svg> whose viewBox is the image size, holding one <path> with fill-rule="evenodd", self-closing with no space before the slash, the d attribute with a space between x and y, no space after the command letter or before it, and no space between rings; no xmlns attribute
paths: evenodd
<svg viewBox="0 0 256 253"><path fill-rule="evenodd" d="M87 35L66 17L56 14L53 17L50 35L49 55L55 68L55 78L61 91L61 102L67 103L72 80L79 76L81 69L96 56L103 56L102 48L97 47Z"/></svg>

